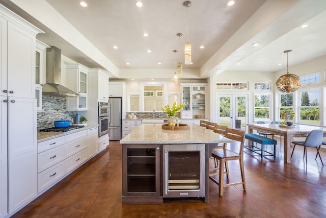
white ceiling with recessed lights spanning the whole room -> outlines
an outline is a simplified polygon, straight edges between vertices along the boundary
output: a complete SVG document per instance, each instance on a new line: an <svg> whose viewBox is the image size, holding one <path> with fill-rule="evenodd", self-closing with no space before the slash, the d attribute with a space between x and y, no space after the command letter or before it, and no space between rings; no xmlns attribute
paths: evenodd
<svg viewBox="0 0 326 218"><path fill-rule="evenodd" d="M73 40L88 40L120 70L174 69L180 56L184 62L187 8L183 0L142 0L142 8L130 0L88 0L86 8L79 6L78 0L24 2L0 0L45 32L37 36L40 41L59 47L63 55L87 67L111 71L103 62L96 61L94 54L81 52L64 33L55 33L56 28L47 25L56 19L51 17L54 12L59 12L86 38L76 34ZM198 69L198 78L213 76L217 69L277 71L286 67L284 50L293 50L289 53L289 66L326 55L324 0L235 0L233 6L227 6L229 0L191 2L188 41L192 43L193 64L183 64L183 68L184 72ZM38 8L44 4L49 7ZM38 16L37 11L44 15ZM309 26L300 28L304 23ZM66 29L67 34L69 31ZM143 36L145 32L148 37ZM183 36L179 38L177 33ZM260 44L253 47L254 42ZM114 45L118 49L113 49ZM201 45L204 49L199 48ZM173 50L181 53L175 54ZM127 62L130 65L126 65ZM172 77L172 74L169 71L161 78Z"/></svg>

